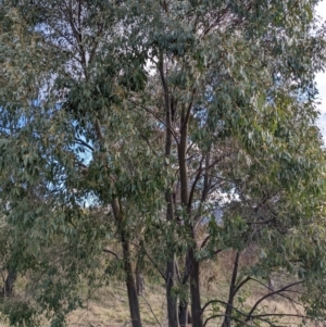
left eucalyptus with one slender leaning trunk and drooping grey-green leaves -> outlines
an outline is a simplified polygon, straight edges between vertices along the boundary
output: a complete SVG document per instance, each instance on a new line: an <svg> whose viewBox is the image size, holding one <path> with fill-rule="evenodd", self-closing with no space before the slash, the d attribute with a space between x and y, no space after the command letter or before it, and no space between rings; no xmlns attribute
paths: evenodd
<svg viewBox="0 0 326 327"><path fill-rule="evenodd" d="M11 185L8 219L36 252L29 268L46 276L34 298L40 311L54 314L53 324L63 324L64 313L80 302L78 275L95 284L100 254L120 259L105 249L106 239L117 237L131 324L141 326L130 246L160 210L166 174L163 156L151 155L146 142L155 122L123 102L145 84L145 60L133 51L118 58L126 8L102 1L5 4L1 164L8 175L1 189ZM29 58L41 64L29 66ZM7 83L15 92L7 92ZM50 196L35 207L27 193L40 178ZM102 210L95 217L85 205Z"/></svg>

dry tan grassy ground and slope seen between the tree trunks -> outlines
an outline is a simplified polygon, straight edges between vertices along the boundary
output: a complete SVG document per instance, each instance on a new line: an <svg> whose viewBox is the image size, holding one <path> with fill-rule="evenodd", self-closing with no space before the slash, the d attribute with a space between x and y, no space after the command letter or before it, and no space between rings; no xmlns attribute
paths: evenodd
<svg viewBox="0 0 326 327"><path fill-rule="evenodd" d="M230 280L230 272L233 267L234 255L228 253L225 257L221 256L218 262L204 262L201 266L201 295L202 305L211 299L220 299L227 301L228 288ZM250 259L246 259L242 265L248 264ZM287 285L286 276L281 278L275 277L276 289ZM161 280L162 282L162 280ZM15 289L24 289L24 279L17 280ZM84 297L87 293L86 288L80 288ZM249 312L250 307L254 305L258 299L264 297L268 290L260 284L250 281L239 292L235 306ZM18 295L18 294L16 294ZM243 300L246 299L246 300ZM153 282L146 280L146 295L139 298L141 318L143 327L167 327L166 318L166 299L164 285L160 281ZM299 310L299 311L298 311ZM302 313L302 309L294 307L284 298L275 297L268 298L260 303L258 312L268 313ZM212 315L212 307L208 307L204 313L204 319ZM85 309L77 310L70 314L67 318L68 327L129 327L129 307L127 292L124 282L112 281L110 286L102 287L95 291L89 300L85 303ZM300 320L297 318L283 318L280 324L283 326L298 326ZM48 324L45 322L45 327ZM221 326L221 320L210 320L206 327ZM265 324L266 325L266 324ZM262 325L264 326L264 325ZM267 325L266 325L267 326ZM4 327L4 325L0 325Z"/></svg>

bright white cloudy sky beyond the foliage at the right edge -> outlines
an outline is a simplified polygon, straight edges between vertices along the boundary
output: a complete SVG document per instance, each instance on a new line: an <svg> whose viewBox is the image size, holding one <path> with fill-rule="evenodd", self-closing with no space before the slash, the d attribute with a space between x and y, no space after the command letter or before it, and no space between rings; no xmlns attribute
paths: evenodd
<svg viewBox="0 0 326 327"><path fill-rule="evenodd" d="M317 13L324 21L326 21L326 0L323 0L319 3L317 7ZM319 90L319 100L322 102L318 106L321 111L318 126L323 134L324 143L326 144L326 72L317 74L316 81Z"/></svg>

